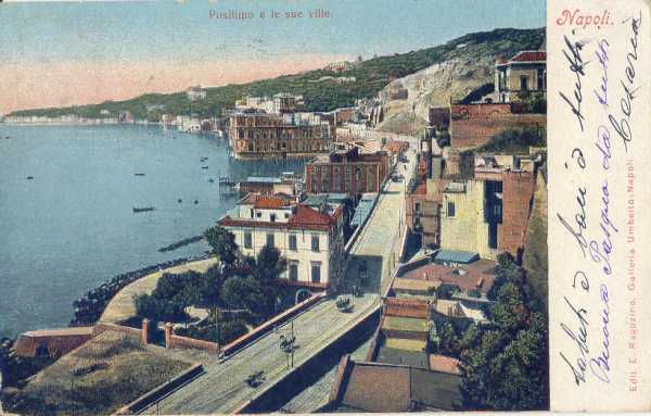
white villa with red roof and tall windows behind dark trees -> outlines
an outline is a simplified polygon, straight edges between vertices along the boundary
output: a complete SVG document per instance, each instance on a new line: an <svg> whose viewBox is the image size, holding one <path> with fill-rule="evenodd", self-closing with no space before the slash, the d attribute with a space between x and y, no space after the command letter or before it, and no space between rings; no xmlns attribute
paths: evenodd
<svg viewBox="0 0 651 416"><path fill-rule="evenodd" d="M312 289L336 286L344 275L343 205L320 210L282 196L250 193L217 224L232 232L244 255L271 244L288 260L281 276Z"/></svg>

